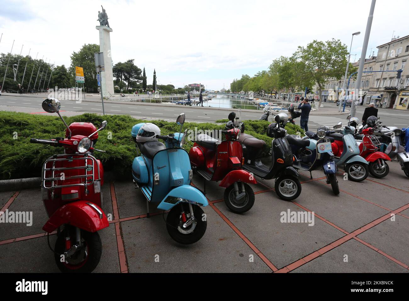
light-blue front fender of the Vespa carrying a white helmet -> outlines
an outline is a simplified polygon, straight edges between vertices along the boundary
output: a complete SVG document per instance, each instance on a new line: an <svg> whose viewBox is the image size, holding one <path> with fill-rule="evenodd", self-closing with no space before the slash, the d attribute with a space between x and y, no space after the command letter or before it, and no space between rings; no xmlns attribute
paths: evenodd
<svg viewBox="0 0 409 301"><path fill-rule="evenodd" d="M157 208L161 210L170 210L180 202L191 203L198 206L209 205L206 197L200 192L200 190L193 186L182 185L169 191Z"/></svg>

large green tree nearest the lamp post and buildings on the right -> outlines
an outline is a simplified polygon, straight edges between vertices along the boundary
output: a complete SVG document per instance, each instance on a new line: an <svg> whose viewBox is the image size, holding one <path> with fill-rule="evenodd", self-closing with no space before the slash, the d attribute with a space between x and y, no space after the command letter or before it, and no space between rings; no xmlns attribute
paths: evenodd
<svg viewBox="0 0 409 301"><path fill-rule="evenodd" d="M304 75L310 76L318 85L319 104L322 102L322 89L326 79L341 79L344 75L347 56L347 46L334 38L326 42L314 40L306 47L299 46L294 53L294 59L305 63Z"/></svg>

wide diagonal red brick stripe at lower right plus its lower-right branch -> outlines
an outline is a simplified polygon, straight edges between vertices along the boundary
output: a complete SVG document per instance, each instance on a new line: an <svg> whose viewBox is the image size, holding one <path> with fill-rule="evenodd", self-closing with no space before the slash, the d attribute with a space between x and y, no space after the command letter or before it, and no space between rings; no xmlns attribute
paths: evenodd
<svg viewBox="0 0 409 301"><path fill-rule="evenodd" d="M391 213L397 214L402 212L403 210L406 210L409 208L409 204L406 204L396 210L393 210ZM321 249L315 251L317 253L319 253L320 255L335 249L336 247L340 246L341 244L343 244L344 242L347 242L348 240L351 239L357 239L357 241L360 241L359 238L356 237L356 235L359 235L365 231L367 231L368 229L371 229L372 227L376 226L377 224L380 224L381 222L384 222L385 220L387 220L390 217L391 213L387 213L385 215L383 215L382 217L374 220L373 222L370 222L369 224L366 224L365 226L353 231L352 233L349 233L348 235L343 236L342 238L339 238L337 240L335 240L335 242L332 242L328 245L326 245L325 247L322 247ZM315 213L314 213L315 214ZM364 243L364 241L362 240L362 243ZM364 243L367 247L370 247L370 244L368 243ZM387 253L384 253L383 251L380 250L376 250L375 247L372 247L371 249L377 251L378 253L382 254L383 256L387 257L388 259L392 260L395 263L398 263L399 265L401 265L402 267L407 267L407 265L405 265L404 263L401 263L399 260L396 260L395 258L393 258L392 256L389 256ZM299 260L294 261L293 263L291 263L290 265L287 265L281 269L279 269L276 272L280 272L280 273L288 273L291 272L294 269L297 269L298 267L301 267L301 265L304 265L305 263L308 263L309 261L317 258L317 253L311 253L303 258L300 258ZM288 271L287 271L288 270Z"/></svg>

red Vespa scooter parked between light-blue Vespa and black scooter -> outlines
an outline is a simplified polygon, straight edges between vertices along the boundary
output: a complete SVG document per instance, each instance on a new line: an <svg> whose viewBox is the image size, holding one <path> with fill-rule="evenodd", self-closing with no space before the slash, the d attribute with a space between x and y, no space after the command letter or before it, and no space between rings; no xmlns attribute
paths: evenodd
<svg viewBox="0 0 409 301"><path fill-rule="evenodd" d="M237 140L240 137L239 118L231 112L229 120L235 126L225 134L226 140L220 141L207 134L199 134L189 151L192 169L206 181L220 181L225 187L224 200L227 207L235 213L244 213L254 205L254 191L247 183L256 184L253 175L243 170L243 147ZM206 186L205 186L206 192Z"/></svg>

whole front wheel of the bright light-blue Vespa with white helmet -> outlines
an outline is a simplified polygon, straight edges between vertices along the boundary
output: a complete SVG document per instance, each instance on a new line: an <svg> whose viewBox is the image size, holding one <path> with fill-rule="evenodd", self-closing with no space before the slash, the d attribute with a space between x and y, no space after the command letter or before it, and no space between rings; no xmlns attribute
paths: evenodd
<svg viewBox="0 0 409 301"><path fill-rule="evenodd" d="M187 227L183 227L182 211L185 213L187 220L190 218L189 210L184 210L184 208L189 208L187 203L179 203L174 206L166 217L166 230L168 230L171 238L180 244L193 244L200 240L203 235L205 235L207 228L206 215L202 208L197 205L193 206L193 215L195 220L189 224Z"/></svg>

